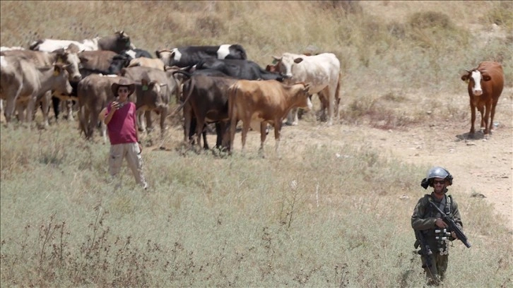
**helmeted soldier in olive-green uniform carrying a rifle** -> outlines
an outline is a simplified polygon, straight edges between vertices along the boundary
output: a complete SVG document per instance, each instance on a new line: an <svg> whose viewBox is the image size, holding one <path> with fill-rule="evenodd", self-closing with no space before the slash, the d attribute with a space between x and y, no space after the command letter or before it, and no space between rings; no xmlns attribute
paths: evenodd
<svg viewBox="0 0 513 288"><path fill-rule="evenodd" d="M458 204L447 195L447 186L452 185L452 175L442 167L433 167L429 170L428 176L420 184L427 189L433 187L431 194L425 194L418 200L413 215L411 216L411 227L420 233L420 243L429 246L429 253L421 253L421 259L428 284L438 286L445 277L447 263L449 262L449 243L454 241L456 234L449 232L447 223L445 223L440 212L432 208L430 202L435 203L447 215L452 216L456 225L463 229L461 217L459 215ZM418 242L415 243L415 246ZM424 251L426 251L424 249Z"/></svg>

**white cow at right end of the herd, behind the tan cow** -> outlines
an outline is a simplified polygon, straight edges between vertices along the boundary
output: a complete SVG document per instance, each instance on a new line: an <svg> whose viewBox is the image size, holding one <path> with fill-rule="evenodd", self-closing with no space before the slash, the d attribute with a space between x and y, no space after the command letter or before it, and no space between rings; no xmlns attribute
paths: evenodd
<svg viewBox="0 0 513 288"><path fill-rule="evenodd" d="M276 69L285 76L285 83L306 83L311 94L317 93L321 100L326 100L328 124L333 124L334 114L338 118L340 61L335 54L322 53L314 56L283 53L281 57L273 56L277 61ZM323 101L324 102L324 101ZM290 111L287 124L297 125L297 109Z"/></svg>

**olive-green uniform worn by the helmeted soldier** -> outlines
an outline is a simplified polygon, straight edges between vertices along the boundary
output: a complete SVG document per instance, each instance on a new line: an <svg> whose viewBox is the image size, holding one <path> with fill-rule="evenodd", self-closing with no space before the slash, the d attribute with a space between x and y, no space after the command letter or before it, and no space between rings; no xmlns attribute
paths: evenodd
<svg viewBox="0 0 513 288"><path fill-rule="evenodd" d="M446 193L444 194L444 207L440 209L444 212L449 208L447 205L448 202L450 205L450 214L453 217L456 225L459 226L460 229L463 228L463 224L461 223L461 217L459 215L458 204L451 196L447 196L447 188L445 188ZM450 199L449 199L450 198ZM430 248L432 248L432 255L429 256L430 265L426 263L424 257L422 257L422 264L424 267L424 271L426 273L426 277L428 277L429 284L438 285L440 282L444 280L445 271L447 270L447 263L449 262L449 254L440 255L439 248L441 244L437 239L435 239L435 230L440 229L437 227L435 222L437 218L440 218L440 215L437 215L437 211L435 208L432 208L428 201L432 201L440 207L440 203L442 200L438 200L434 193L426 194L423 198L418 200L417 205L415 206L415 210L413 210L413 215L411 215L411 227L415 230L420 230L423 233L425 241L428 242ZM454 238L452 236L447 237L449 241L453 241ZM447 244L443 244L442 246L447 246L446 249L449 248ZM447 250L446 250L447 251Z"/></svg>

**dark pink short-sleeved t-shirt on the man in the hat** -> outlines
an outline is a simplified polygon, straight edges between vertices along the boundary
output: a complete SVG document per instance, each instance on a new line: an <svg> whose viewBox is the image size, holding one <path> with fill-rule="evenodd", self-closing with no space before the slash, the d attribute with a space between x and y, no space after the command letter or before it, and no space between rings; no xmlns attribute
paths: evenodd
<svg viewBox="0 0 513 288"><path fill-rule="evenodd" d="M112 102L107 105L109 114ZM107 115L105 114L105 115ZM127 102L121 109L117 110L107 125L110 144L136 143L136 104Z"/></svg>

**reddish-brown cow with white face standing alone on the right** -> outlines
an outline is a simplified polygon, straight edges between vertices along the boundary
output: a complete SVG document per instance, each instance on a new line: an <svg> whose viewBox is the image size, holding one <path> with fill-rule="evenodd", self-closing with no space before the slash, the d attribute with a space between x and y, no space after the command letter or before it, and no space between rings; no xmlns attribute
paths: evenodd
<svg viewBox="0 0 513 288"><path fill-rule="evenodd" d="M481 62L478 68L466 70L461 80L468 82L468 96L471 107L471 136L475 132L476 108L481 114L481 128L484 127L484 135L488 136L493 130L493 116L495 106L499 101L502 88L504 88L504 72L502 66L493 61ZM483 116L483 109L485 114ZM491 112L491 113L490 113Z"/></svg>

